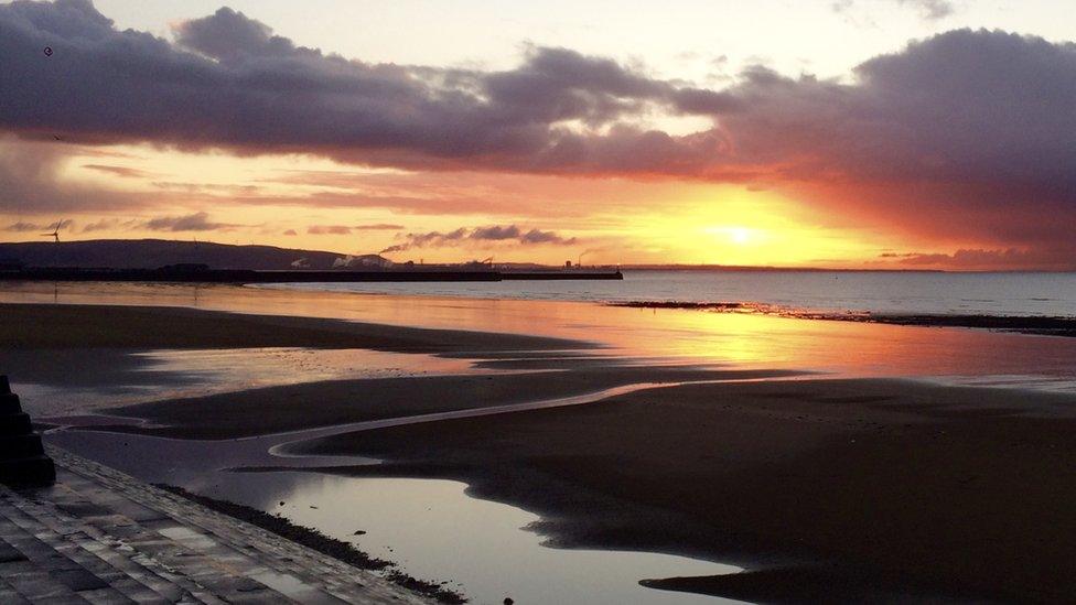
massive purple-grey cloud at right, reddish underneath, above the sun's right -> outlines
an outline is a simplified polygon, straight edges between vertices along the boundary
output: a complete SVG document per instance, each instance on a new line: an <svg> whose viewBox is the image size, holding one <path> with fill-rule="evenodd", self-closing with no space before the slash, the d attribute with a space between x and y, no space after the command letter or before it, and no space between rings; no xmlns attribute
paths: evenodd
<svg viewBox="0 0 1076 605"><path fill-rule="evenodd" d="M870 60L856 76L745 74L734 90L747 108L721 117L733 150L724 168L766 166L764 184L828 182L816 202L852 193L857 206L927 233L1068 237L1076 46L957 30Z"/></svg>

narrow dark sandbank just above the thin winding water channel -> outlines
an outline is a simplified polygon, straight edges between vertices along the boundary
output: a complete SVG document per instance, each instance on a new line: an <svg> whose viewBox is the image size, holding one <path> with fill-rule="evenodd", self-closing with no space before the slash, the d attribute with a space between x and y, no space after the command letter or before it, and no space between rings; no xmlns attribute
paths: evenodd
<svg viewBox="0 0 1076 605"><path fill-rule="evenodd" d="M754 380L790 374L670 367L329 380L139 403L114 408L108 413L159 425L117 426L115 430L119 431L181 439L234 439L560 399L639 382Z"/></svg>

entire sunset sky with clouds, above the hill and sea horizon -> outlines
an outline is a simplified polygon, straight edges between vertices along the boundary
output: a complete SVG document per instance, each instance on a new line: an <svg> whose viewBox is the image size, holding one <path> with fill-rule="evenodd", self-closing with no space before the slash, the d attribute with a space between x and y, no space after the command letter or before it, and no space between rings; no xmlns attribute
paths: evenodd
<svg viewBox="0 0 1076 605"><path fill-rule="evenodd" d="M1065 4L0 2L0 240L1074 270Z"/></svg>

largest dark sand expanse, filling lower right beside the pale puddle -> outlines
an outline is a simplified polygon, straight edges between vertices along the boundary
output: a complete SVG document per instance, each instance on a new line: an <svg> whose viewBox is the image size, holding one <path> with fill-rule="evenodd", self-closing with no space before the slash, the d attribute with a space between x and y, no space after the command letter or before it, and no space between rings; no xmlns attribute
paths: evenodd
<svg viewBox="0 0 1076 605"><path fill-rule="evenodd" d="M689 385L295 451L390 461L341 473L465 480L538 511L564 545L776 568L763 583L667 587L795 602L807 580L858 577L883 592L1063 601L1076 588L1074 403L903 380Z"/></svg>

